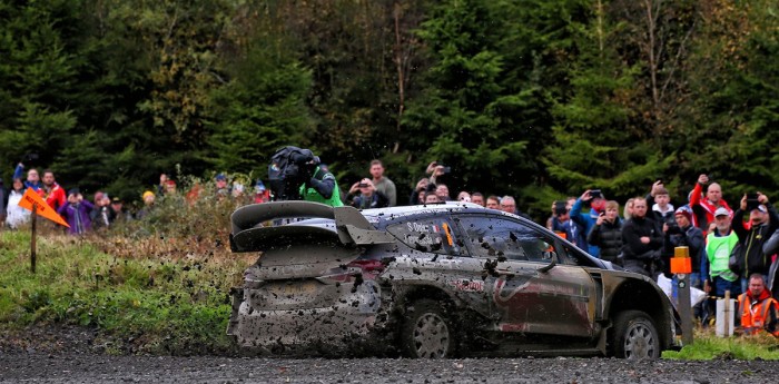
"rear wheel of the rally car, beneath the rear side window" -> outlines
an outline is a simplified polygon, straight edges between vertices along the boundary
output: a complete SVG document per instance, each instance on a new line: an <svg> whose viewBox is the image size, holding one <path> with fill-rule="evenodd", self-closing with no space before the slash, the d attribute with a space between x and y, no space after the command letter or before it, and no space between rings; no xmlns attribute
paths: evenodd
<svg viewBox="0 0 779 384"><path fill-rule="evenodd" d="M412 358L452 357L456 333L446 308L435 301L414 302L401 327L401 351Z"/></svg>

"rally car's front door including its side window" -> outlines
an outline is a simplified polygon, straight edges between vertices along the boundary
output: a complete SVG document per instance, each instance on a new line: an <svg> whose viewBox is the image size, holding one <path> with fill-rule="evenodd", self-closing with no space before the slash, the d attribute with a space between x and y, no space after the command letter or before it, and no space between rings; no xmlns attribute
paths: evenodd
<svg viewBox="0 0 779 384"><path fill-rule="evenodd" d="M510 216L458 218L471 253L484 260L501 331L592 336L594 282L582 267L560 263L559 237Z"/></svg>

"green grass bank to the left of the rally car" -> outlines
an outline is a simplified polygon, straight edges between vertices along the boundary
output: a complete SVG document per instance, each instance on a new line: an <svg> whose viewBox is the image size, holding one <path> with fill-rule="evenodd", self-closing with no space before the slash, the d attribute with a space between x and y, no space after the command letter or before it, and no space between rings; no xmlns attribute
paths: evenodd
<svg viewBox="0 0 779 384"><path fill-rule="evenodd" d="M99 244L39 236L32 274L29 232L0 233L0 329L93 327L115 353L233 351L225 335L228 294L249 258L215 257L213 250L181 256L160 246L116 257Z"/></svg>

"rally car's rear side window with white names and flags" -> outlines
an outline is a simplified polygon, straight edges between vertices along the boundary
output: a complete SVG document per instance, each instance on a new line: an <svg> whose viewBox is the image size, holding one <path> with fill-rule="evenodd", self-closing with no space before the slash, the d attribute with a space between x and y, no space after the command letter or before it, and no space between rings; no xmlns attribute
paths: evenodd
<svg viewBox="0 0 779 384"><path fill-rule="evenodd" d="M467 249L457 238L448 218L403 221L388 226L387 232L406 246L420 252L467 256Z"/></svg>

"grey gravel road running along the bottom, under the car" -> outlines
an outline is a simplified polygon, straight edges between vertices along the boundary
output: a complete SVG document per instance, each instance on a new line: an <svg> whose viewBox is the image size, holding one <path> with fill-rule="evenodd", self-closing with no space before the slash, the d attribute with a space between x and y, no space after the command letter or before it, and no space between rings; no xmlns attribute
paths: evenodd
<svg viewBox="0 0 779 384"><path fill-rule="evenodd" d="M777 361L0 355L0 383L776 383L778 375Z"/></svg>

